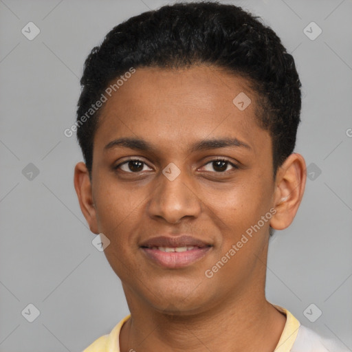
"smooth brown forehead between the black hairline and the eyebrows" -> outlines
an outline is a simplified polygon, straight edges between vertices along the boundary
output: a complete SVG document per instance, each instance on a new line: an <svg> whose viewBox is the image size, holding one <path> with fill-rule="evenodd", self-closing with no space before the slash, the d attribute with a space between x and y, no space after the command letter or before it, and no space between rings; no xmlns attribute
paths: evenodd
<svg viewBox="0 0 352 352"><path fill-rule="evenodd" d="M107 98L94 148L126 136L164 148L207 136L236 137L253 148L270 143L256 122L256 96L248 82L217 67L137 68Z"/></svg>

